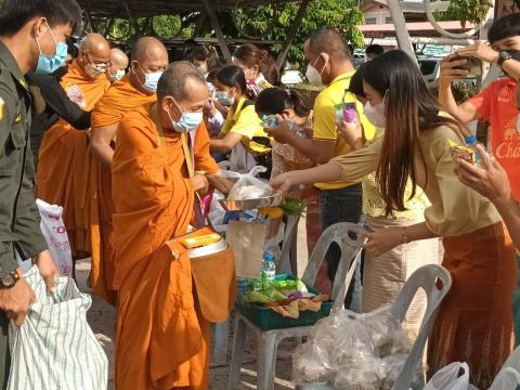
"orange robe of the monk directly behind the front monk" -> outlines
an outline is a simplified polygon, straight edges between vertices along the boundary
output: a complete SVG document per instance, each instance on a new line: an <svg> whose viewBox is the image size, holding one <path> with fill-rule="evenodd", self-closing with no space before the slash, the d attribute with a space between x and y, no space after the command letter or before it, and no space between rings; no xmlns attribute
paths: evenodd
<svg viewBox="0 0 520 390"><path fill-rule="evenodd" d="M143 109L157 100L156 94L136 90L126 76L112 84L92 112L92 129L118 126L129 112ZM115 140L114 140L115 141ZM113 145L115 145L113 143ZM90 168L90 283L94 292L109 303L115 303L114 242L112 214L112 170L92 155Z"/></svg>

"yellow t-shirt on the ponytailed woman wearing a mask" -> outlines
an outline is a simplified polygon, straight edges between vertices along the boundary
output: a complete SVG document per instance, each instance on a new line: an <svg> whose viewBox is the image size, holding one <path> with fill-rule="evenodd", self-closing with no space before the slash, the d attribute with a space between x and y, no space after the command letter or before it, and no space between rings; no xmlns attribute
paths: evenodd
<svg viewBox="0 0 520 390"><path fill-rule="evenodd" d="M236 110L230 108L222 127L222 134L225 135L230 131L242 135L242 144L251 154L263 154L271 151L270 147L252 141L253 136L268 139L268 134L263 131L262 120L255 110L255 104L244 106L247 98L242 96Z"/></svg>

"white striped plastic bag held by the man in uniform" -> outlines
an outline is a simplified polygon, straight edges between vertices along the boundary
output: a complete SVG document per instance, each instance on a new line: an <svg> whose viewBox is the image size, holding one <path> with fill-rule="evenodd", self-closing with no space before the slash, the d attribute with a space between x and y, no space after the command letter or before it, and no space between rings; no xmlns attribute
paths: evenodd
<svg viewBox="0 0 520 390"><path fill-rule="evenodd" d="M9 390L100 390L108 382L108 360L87 323L92 304L69 277L48 294L34 266L26 275L37 301L22 326L9 325Z"/></svg>

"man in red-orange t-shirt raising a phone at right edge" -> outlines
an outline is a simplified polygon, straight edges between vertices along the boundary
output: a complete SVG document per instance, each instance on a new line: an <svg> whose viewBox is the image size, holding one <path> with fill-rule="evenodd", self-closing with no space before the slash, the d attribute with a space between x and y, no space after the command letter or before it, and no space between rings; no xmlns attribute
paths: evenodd
<svg viewBox="0 0 520 390"><path fill-rule="evenodd" d="M461 120L490 121L491 151L507 171L511 194L520 202L520 14L511 14L495 21L487 39L491 47L480 42L471 44L442 61L439 79L439 100L444 107ZM507 77L492 82L479 94L457 105L452 93L452 81L466 77L460 69L466 60L457 55L496 63Z"/></svg>

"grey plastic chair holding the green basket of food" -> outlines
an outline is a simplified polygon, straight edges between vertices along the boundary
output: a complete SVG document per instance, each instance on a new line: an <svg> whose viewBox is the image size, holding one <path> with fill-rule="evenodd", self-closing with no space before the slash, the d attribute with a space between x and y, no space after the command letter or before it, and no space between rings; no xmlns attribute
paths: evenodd
<svg viewBox="0 0 520 390"><path fill-rule="evenodd" d="M363 244L366 242L364 233L366 233L366 230L361 223L341 222L327 227L316 243L306 268L302 282L306 283L306 285L312 286L328 247L333 243L337 243L340 246L341 259L334 281L332 295L335 301L333 310L343 306L347 295L346 285L350 284L352 280L355 263L359 261ZM278 343L289 337L301 338L308 336L312 329L312 325L286 329L261 330L240 313L236 313L233 355L227 389L236 389L238 386L247 328L257 337L257 388L261 390L273 389Z"/></svg>

